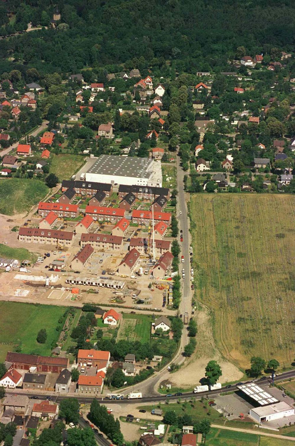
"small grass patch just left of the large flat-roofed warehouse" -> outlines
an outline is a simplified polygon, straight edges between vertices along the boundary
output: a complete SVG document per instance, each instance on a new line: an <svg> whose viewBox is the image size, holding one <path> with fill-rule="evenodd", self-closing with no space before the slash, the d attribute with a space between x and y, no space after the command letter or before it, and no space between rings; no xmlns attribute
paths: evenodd
<svg viewBox="0 0 295 446"><path fill-rule="evenodd" d="M61 182L70 180L84 164L84 157L81 155L54 155L50 163L50 173L55 173Z"/></svg>

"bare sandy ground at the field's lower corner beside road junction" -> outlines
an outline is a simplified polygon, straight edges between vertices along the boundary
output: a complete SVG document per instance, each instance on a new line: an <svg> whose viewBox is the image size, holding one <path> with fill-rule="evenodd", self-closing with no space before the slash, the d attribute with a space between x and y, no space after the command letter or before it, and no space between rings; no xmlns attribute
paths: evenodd
<svg viewBox="0 0 295 446"><path fill-rule="evenodd" d="M212 327L209 320L208 310L203 307L196 311L198 333L196 336L197 348L194 355L187 360L186 365L175 373L171 373L169 380L175 387L192 387L198 385L199 380L205 376L207 363L214 359L222 369L222 376L218 382L226 383L242 378L242 372L232 363L222 358L215 347Z"/></svg>

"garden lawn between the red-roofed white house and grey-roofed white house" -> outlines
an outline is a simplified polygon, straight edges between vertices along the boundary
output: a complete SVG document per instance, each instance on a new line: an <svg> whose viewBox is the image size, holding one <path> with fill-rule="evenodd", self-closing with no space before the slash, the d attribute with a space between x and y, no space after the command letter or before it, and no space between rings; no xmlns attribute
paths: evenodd
<svg viewBox="0 0 295 446"><path fill-rule="evenodd" d="M119 327L117 341L140 341L150 343L151 318L145 314L123 313L123 319Z"/></svg>

